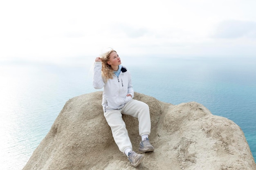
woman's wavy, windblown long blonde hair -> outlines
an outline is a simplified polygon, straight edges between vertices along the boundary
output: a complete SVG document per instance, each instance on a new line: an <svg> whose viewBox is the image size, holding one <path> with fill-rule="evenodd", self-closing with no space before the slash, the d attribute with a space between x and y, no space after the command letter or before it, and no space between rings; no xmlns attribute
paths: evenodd
<svg viewBox="0 0 256 170"><path fill-rule="evenodd" d="M112 52L117 52L117 51L111 49L110 51L107 51L106 53L103 53L100 55L101 61L102 61L101 75L105 83L108 81L108 79L112 79L114 75L113 68L108 64L110 54Z"/></svg>

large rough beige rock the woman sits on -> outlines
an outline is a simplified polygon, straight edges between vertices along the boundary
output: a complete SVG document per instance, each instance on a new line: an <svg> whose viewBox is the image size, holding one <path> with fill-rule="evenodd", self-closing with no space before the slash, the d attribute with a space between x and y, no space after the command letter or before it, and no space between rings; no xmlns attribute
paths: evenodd
<svg viewBox="0 0 256 170"><path fill-rule="evenodd" d="M102 92L68 100L23 170L133 170L117 148L103 116ZM150 141L141 170L256 170L243 131L196 102L172 105L140 93L148 104ZM141 137L138 119L123 115L133 150Z"/></svg>

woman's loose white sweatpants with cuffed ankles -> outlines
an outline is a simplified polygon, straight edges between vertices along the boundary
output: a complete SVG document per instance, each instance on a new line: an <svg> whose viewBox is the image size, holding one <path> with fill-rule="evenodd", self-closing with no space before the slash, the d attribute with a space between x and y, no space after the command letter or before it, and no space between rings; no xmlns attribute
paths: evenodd
<svg viewBox="0 0 256 170"><path fill-rule="evenodd" d="M111 128L112 135L119 150L124 153L127 148L132 149L126 125L122 114L137 117L139 120L139 135L149 135L151 129L149 107L146 103L132 99L118 110L110 110L104 116Z"/></svg>

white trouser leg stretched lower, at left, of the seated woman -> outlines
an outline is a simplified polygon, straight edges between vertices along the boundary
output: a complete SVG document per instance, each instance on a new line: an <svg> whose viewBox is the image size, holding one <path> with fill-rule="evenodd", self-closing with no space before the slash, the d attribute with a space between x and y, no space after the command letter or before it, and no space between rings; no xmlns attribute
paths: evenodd
<svg viewBox="0 0 256 170"><path fill-rule="evenodd" d="M132 144L122 119L121 110L110 110L104 113L104 116L111 128L113 138L119 150L123 153L127 148L132 150Z"/></svg>

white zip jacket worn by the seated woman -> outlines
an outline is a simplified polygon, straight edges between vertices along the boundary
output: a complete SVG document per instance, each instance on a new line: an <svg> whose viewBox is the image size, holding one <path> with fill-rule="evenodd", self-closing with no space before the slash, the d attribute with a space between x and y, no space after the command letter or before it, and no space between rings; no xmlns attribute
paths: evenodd
<svg viewBox="0 0 256 170"><path fill-rule="evenodd" d="M132 87L130 72L122 66L121 73L117 77L113 75L113 79L108 79L104 83L101 77L101 62L95 62L94 75L93 75L93 87L95 89L103 88L102 94L102 106L103 111L109 111L114 109L120 109L134 97L134 91ZM130 96L126 96L130 94Z"/></svg>

